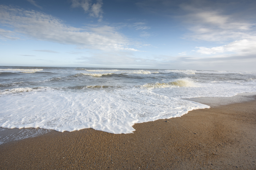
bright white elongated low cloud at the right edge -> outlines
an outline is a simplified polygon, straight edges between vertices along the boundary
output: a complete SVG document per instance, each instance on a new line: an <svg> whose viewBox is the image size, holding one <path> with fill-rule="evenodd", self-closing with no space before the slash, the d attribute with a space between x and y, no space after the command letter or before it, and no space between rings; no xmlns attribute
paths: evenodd
<svg viewBox="0 0 256 170"><path fill-rule="evenodd" d="M251 37L253 38L253 37ZM256 37L254 39L243 39L228 43L227 45L216 46L212 48L196 47L198 53L201 54L216 54L225 52L234 52L240 55L256 55Z"/></svg>

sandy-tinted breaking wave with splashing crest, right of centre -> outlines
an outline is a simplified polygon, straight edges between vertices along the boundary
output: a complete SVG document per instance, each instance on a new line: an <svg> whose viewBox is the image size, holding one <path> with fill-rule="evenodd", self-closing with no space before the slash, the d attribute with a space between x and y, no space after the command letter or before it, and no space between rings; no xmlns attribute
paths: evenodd
<svg viewBox="0 0 256 170"><path fill-rule="evenodd" d="M149 84L144 84L142 85L142 87L144 88L149 88L149 89L155 89L155 88L171 88L171 87L197 87L197 85L187 79L178 79L176 81L173 82L169 82L169 83L149 83Z"/></svg>

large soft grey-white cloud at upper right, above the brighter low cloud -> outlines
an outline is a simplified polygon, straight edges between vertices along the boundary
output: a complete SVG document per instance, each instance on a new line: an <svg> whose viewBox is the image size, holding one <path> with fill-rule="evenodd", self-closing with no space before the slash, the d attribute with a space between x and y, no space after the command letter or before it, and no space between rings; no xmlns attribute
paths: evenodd
<svg viewBox="0 0 256 170"><path fill-rule="evenodd" d="M239 19L235 13L223 14L221 10L184 4L181 8L187 12L186 15L179 17L188 24L190 33L185 35L186 38L226 42L256 35L256 24L244 18Z"/></svg>

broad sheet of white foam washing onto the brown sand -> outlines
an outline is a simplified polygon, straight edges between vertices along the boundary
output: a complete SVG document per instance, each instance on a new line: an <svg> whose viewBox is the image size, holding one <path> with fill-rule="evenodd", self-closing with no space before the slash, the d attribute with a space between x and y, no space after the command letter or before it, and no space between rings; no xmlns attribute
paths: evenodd
<svg viewBox="0 0 256 170"><path fill-rule="evenodd" d="M48 89L0 97L0 126L40 127L56 131L93 128L110 133L132 133L134 123L180 117L206 105L171 99L140 88L84 93Z"/></svg>

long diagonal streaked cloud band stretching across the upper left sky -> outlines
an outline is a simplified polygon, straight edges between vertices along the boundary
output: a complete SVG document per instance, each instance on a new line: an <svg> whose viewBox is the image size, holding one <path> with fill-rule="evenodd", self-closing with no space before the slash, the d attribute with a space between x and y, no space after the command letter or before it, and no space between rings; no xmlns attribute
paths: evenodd
<svg viewBox="0 0 256 170"><path fill-rule="evenodd" d="M62 20L37 11L18 9L12 6L0 6L0 22L15 32L38 40L73 44L80 48L99 50L131 50L127 38L114 28L103 26L92 28L95 32L66 25ZM3 30L2 30L3 31ZM13 36L11 38L14 38Z"/></svg>

